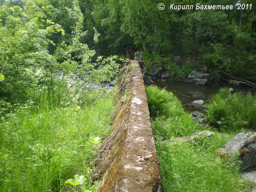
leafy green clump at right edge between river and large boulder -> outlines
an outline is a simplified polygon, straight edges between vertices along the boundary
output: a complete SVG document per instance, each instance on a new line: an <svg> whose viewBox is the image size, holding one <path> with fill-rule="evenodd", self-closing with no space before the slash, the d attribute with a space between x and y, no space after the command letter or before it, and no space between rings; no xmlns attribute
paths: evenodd
<svg viewBox="0 0 256 192"><path fill-rule="evenodd" d="M242 127L255 128L256 99L251 93L244 96L240 92L231 94L227 88L220 89L217 94L212 95L206 107L208 120L221 129L233 131Z"/></svg>

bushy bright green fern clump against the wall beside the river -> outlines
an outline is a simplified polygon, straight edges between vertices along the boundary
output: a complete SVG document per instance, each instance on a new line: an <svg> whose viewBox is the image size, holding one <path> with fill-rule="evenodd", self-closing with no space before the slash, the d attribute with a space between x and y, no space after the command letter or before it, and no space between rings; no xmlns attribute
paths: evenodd
<svg viewBox="0 0 256 192"><path fill-rule="evenodd" d="M182 105L172 92L150 85L146 87L146 93L151 118L177 116L182 113Z"/></svg>

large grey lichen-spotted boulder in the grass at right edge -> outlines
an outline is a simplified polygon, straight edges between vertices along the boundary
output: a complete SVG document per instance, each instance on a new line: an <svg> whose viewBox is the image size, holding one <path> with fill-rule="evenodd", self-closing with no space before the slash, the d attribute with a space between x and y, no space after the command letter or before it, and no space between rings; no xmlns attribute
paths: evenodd
<svg viewBox="0 0 256 192"><path fill-rule="evenodd" d="M238 133L222 148L216 150L220 157L238 154L242 169L256 166L256 132Z"/></svg>

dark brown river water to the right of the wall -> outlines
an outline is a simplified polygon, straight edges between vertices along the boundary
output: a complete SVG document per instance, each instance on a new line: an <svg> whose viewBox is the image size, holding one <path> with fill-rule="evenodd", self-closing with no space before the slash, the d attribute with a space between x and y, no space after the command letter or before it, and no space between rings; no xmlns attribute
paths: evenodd
<svg viewBox="0 0 256 192"><path fill-rule="evenodd" d="M166 90L173 92L173 94L181 101L183 108L185 111L192 112L192 111L202 111L204 108L196 108L188 103L195 101L195 100L204 100L205 103L209 102L209 98L212 94L218 92L220 88L227 86L227 84L210 84L210 85L192 85L186 84L183 82L160 82L154 81L154 83L160 88L166 88ZM228 88L230 86L227 86ZM242 91L242 92L251 92L252 95L256 94L256 89L250 87L232 87L234 91ZM192 96L188 92L200 92L202 95L200 96Z"/></svg>

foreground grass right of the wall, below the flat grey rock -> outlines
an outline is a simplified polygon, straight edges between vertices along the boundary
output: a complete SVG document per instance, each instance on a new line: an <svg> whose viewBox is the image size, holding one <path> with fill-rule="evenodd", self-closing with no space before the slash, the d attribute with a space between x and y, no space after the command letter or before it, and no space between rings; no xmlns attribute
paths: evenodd
<svg viewBox="0 0 256 192"><path fill-rule="evenodd" d="M226 142L228 139L225 139ZM246 191L253 188L239 176L239 162L216 161L208 146L225 144L219 136L197 143L166 142L156 145L164 191ZM217 145L216 145L217 144ZM209 172L211 174L209 174Z"/></svg>

